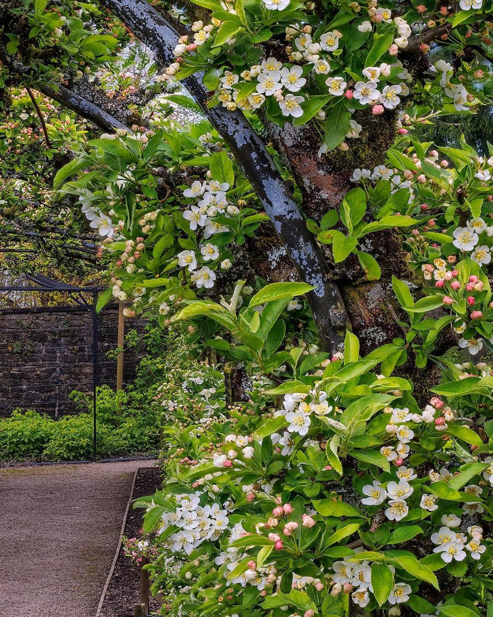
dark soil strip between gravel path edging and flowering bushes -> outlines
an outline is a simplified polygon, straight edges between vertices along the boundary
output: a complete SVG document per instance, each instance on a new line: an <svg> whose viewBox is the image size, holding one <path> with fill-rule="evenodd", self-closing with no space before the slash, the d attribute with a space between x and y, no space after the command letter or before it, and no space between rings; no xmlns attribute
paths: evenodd
<svg viewBox="0 0 493 617"><path fill-rule="evenodd" d="M158 468L142 468L137 473L132 499L152 495L161 484ZM142 529L142 509L128 512L124 536L139 537ZM141 572L128 557L123 548L116 560L113 576L108 585L100 617L134 617L134 605L140 602ZM156 600L150 597L149 613L154 615L160 608Z"/></svg>

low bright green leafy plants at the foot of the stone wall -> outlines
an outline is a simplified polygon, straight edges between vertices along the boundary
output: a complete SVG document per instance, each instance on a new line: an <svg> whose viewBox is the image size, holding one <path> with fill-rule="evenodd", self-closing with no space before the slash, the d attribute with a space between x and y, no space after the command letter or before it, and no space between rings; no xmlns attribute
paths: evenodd
<svg viewBox="0 0 493 617"><path fill-rule="evenodd" d="M131 330L124 349L144 354L136 378L124 391L108 386L97 388L97 457L156 455L161 439L160 410L152 408L153 394L163 375L173 368L166 358L174 337L165 336L153 321L144 333ZM118 352L116 350L114 353ZM92 394L73 391L75 415L54 419L36 410L14 410L0 420L0 460L91 460L94 455Z"/></svg>

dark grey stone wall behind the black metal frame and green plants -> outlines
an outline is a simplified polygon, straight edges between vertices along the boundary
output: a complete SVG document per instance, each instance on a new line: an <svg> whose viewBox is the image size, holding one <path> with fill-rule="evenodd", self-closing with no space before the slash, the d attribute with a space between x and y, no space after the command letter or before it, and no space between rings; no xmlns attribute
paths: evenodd
<svg viewBox="0 0 493 617"><path fill-rule="evenodd" d="M116 386L118 308L98 318L99 384ZM125 320L125 333L142 331L144 320ZM0 310L0 415L16 407L57 417L75 412L72 390L92 392L92 313L79 307ZM134 378L139 357L124 354L124 383Z"/></svg>

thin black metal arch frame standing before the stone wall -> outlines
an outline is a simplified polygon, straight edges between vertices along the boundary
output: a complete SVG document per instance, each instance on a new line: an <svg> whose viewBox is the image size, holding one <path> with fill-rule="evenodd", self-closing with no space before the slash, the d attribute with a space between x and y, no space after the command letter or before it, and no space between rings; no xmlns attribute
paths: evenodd
<svg viewBox="0 0 493 617"><path fill-rule="evenodd" d="M97 386L99 384L99 313L96 310L97 295L100 291L104 291L104 287L77 287L62 281L57 281L48 278L44 275L23 275L29 284L22 286L2 286L0 292L7 291L65 291L76 304L83 307L84 310L91 312L92 315L92 460L97 460L97 423L96 423L96 408L97 408ZM84 293L91 294L91 301L84 297ZM1 308L0 308L1 311Z"/></svg>

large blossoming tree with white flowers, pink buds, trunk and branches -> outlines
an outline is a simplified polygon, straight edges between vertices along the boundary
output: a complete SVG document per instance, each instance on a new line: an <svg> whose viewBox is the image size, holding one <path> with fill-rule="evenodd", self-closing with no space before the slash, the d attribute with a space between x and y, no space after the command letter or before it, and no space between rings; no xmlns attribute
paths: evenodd
<svg viewBox="0 0 493 617"><path fill-rule="evenodd" d="M491 102L491 0L153 4L4 4L0 59L106 131L51 167L100 305L208 353L156 400L163 611L491 617L493 148L420 138Z"/></svg>

